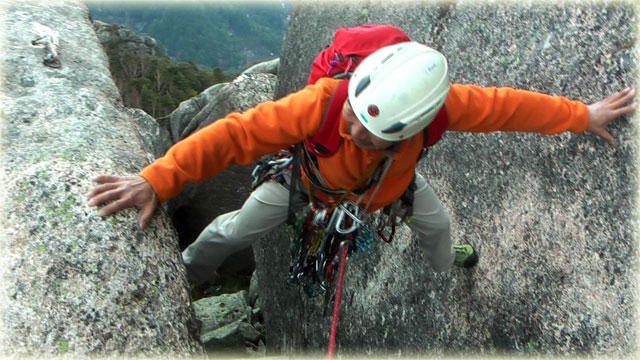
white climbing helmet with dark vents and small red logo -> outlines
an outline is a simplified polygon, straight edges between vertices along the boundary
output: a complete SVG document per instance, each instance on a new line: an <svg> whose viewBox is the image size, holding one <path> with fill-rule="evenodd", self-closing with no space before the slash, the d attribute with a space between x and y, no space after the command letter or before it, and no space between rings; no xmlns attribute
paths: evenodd
<svg viewBox="0 0 640 360"><path fill-rule="evenodd" d="M356 117L387 141L410 138L427 127L448 93L444 55L413 41L376 50L349 81L349 102Z"/></svg>

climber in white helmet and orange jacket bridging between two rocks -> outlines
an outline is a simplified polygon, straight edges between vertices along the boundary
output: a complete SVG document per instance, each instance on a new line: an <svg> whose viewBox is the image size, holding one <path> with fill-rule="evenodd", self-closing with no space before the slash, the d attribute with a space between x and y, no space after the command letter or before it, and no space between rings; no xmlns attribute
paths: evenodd
<svg viewBox="0 0 640 360"><path fill-rule="evenodd" d="M97 176L98 185L88 193L89 205L103 204L100 216L137 207L141 210L139 226L144 229L156 208L180 193L185 182L215 176L232 163L250 164L313 136L341 81L322 78L277 101L229 114L176 143L137 176ZM453 245L443 205L416 172L424 148L423 130L440 110L446 109L448 131L586 131L614 145L607 125L636 109L634 96L635 91L627 88L585 105L512 88L450 83L446 59L438 51L417 42L387 46L368 56L353 72L341 108L341 143L334 154L315 158L311 169L300 172L303 190L306 195L312 193L309 198L313 201L336 201L363 173L371 172L375 167L371 164L380 157L382 170L373 172L376 178L368 181L370 186L353 189L344 200L356 203L363 214L372 213L398 202L413 186L408 225L431 267L435 271L454 264L471 267L477 253L470 245ZM216 269L227 256L287 221L288 184L294 179L291 168L285 172L286 181L264 181L240 209L217 217L184 250L183 260L194 285L215 282Z"/></svg>

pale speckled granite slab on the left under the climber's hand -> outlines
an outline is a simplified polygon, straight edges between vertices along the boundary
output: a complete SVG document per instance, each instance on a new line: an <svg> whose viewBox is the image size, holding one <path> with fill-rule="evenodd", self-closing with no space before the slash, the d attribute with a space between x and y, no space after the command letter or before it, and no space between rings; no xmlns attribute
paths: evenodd
<svg viewBox="0 0 640 360"><path fill-rule="evenodd" d="M103 219L87 205L94 176L147 159L84 3L0 10L0 353L201 354L168 218L140 231L136 210ZM43 65L31 22L58 33L61 68Z"/></svg>

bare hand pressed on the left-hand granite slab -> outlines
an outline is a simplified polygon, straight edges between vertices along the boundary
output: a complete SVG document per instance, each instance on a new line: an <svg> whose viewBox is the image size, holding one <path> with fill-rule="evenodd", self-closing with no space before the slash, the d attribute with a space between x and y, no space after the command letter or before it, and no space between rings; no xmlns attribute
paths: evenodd
<svg viewBox="0 0 640 360"><path fill-rule="evenodd" d="M98 206L112 201L102 207L98 215L108 216L135 206L142 211L138 222L140 229L149 225L159 201L153 187L143 177L99 175L93 181L100 185L87 194L89 206Z"/></svg>

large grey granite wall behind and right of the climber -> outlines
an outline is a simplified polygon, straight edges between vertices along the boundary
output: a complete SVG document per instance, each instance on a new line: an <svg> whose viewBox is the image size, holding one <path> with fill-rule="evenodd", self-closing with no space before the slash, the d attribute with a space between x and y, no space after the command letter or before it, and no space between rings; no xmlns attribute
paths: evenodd
<svg viewBox="0 0 640 360"><path fill-rule="evenodd" d="M637 5L467 1L300 3L277 95L302 87L338 26L390 23L441 50L451 81L590 103L637 88ZM637 129L588 134L447 133L419 164L452 224L480 253L433 273L407 228L348 260L342 355L629 355L637 350ZM331 307L286 283L289 243L254 247L270 353L322 354Z"/></svg>

